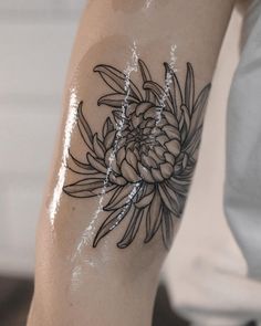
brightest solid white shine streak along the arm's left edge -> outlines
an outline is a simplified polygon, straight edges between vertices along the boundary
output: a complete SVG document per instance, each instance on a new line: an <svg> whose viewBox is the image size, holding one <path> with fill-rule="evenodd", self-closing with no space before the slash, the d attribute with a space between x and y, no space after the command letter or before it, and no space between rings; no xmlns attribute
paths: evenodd
<svg viewBox="0 0 261 326"><path fill-rule="evenodd" d="M63 153L62 162L58 173L58 182L53 190L52 201L49 206L49 219L51 223L52 231L54 231L54 220L60 206L61 194L63 191L63 186L66 175L66 160L69 157L69 148L71 146L71 138L74 125L76 124L77 115L77 96L75 88L71 90L70 104L69 104L69 115L65 123L64 136L63 136Z"/></svg>

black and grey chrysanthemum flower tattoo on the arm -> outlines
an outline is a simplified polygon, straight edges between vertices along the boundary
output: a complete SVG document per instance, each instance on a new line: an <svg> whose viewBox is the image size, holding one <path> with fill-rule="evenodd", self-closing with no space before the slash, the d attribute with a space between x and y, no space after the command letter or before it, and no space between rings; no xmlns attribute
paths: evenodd
<svg viewBox="0 0 261 326"><path fill-rule="evenodd" d="M83 114L83 102L77 108L86 160L77 160L70 151L67 168L81 178L63 191L76 198L108 198L102 207L108 215L95 235L94 248L127 220L118 248L134 241L144 221L144 242L149 242L160 229L169 249L175 219L181 217L196 166L210 84L196 96L190 63L184 90L168 63L164 63L164 87L152 80L142 60L138 66L140 87L114 66L94 67L112 90L97 101L98 106L112 108L101 133L93 134Z"/></svg>

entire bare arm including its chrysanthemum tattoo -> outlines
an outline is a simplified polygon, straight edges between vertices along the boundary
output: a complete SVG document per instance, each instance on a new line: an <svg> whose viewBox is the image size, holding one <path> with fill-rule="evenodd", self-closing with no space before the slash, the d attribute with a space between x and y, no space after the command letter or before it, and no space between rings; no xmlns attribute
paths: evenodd
<svg viewBox="0 0 261 326"><path fill-rule="evenodd" d="M39 224L30 326L149 325L233 1L91 1Z"/></svg>

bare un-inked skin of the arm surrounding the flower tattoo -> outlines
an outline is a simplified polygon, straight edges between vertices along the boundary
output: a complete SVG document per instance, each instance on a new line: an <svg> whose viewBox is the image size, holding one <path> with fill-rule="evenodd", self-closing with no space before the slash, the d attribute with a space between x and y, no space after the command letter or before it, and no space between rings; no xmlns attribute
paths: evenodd
<svg viewBox="0 0 261 326"><path fill-rule="evenodd" d="M130 6L132 3L132 6ZM97 107L108 88L93 67L111 64L121 71L132 62L132 49L164 84L165 61L176 45L177 70L184 84L186 63L196 74L196 93L213 74L233 1L173 0L91 1L83 13L67 72L60 135L46 185L36 235L35 291L28 326L148 326L163 261L167 254L160 233L144 245L145 225L130 246L116 248L126 221L92 248L98 199L71 198L61 187L75 180L66 172L66 150L84 158L86 147L74 123L75 107L94 132L109 114ZM142 7L142 9L140 9ZM138 80L133 74L132 77ZM61 181L61 185L59 183ZM93 222L93 223L92 223ZM92 225L90 232L87 228ZM178 229L178 224L176 228ZM81 244L82 243L82 244Z"/></svg>

